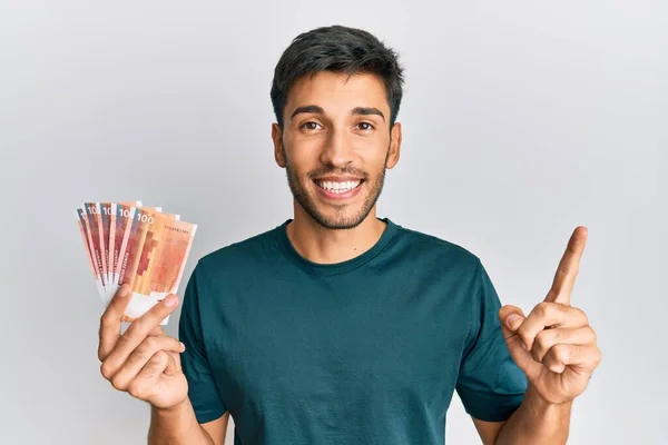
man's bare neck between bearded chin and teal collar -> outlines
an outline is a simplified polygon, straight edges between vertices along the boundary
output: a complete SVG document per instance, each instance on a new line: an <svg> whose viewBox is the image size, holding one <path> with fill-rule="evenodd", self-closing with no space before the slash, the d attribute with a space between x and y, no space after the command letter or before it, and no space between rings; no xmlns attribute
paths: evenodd
<svg viewBox="0 0 668 445"><path fill-rule="evenodd" d="M383 235L386 224L376 218L375 206L357 227L327 229L295 206L295 217L287 225L287 237L295 250L316 264L346 261L371 249Z"/></svg>

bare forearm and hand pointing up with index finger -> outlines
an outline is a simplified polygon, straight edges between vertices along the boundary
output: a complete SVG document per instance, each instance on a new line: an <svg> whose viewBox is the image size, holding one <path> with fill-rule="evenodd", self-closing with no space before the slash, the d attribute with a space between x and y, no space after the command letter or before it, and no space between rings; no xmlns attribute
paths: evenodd
<svg viewBox="0 0 668 445"><path fill-rule="evenodd" d="M571 306L571 290L587 230L578 227L559 263L552 287L529 316L504 306L499 312L510 355L528 386L520 407L503 424L494 444L566 444L572 403L601 360L587 315Z"/></svg>

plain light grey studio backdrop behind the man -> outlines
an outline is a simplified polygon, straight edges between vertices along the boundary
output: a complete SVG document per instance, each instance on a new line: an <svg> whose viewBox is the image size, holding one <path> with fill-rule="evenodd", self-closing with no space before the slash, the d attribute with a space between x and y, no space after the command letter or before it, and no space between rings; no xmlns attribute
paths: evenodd
<svg viewBox="0 0 668 445"><path fill-rule="evenodd" d="M524 312L587 226L572 304L602 362L569 443L668 443L667 12L659 0L1 1L0 443L146 442L148 406L99 373L102 306L73 210L141 199L198 224L184 279L291 217L273 69L298 33L334 23L373 32L405 66L402 158L379 215L471 250ZM456 394L446 439L480 443Z"/></svg>

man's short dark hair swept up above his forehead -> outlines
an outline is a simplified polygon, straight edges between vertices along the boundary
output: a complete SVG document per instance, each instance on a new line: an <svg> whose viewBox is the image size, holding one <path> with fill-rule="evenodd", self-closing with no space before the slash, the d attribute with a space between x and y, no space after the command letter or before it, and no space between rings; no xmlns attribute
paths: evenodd
<svg viewBox="0 0 668 445"><path fill-rule="evenodd" d="M367 31L340 24L301 33L283 52L274 70L272 105L283 129L283 111L291 86L304 75L320 71L350 76L373 73L383 79L390 103L390 128L396 120L403 95L403 68L396 52Z"/></svg>

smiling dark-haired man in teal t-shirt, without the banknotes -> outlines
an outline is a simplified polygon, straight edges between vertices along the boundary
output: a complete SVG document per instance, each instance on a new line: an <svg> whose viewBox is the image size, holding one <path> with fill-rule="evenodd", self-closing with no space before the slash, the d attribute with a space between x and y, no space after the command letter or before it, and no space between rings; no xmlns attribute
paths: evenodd
<svg viewBox="0 0 668 445"><path fill-rule="evenodd" d="M473 254L377 218L400 158L402 76L365 31L297 37L271 93L294 218L198 261L183 344L158 325L176 296L122 336L127 289L114 298L101 373L151 405L149 443L223 444L232 414L235 444L443 444L455 390L484 444L566 442L600 362L570 306L586 229L524 316L501 307Z"/></svg>

